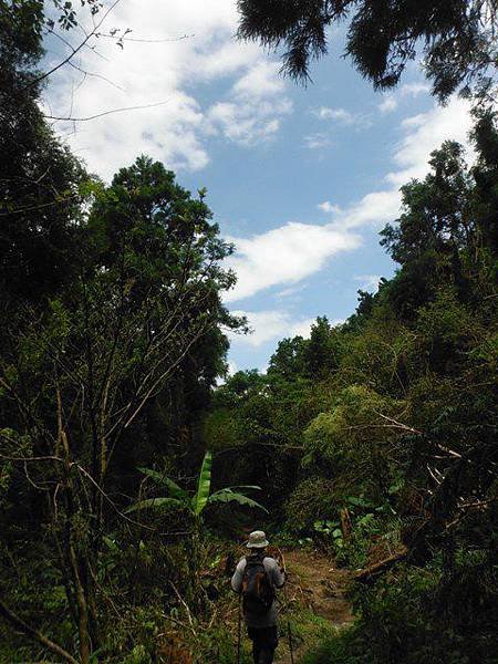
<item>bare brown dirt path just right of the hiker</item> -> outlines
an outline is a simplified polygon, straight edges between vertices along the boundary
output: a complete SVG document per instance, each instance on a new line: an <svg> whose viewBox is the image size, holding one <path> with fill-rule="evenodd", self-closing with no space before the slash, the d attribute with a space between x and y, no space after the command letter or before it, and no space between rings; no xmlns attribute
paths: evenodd
<svg viewBox="0 0 498 664"><path fill-rule="evenodd" d="M329 558L317 551L293 550L284 554L288 571L287 596L291 606L304 606L309 613L319 616L331 626L343 627L353 620L350 602L344 598L351 572L336 569ZM298 610L299 611L299 610ZM301 610L302 611L302 610ZM299 613L291 610L291 622L301 622ZM286 611L280 611L281 639L276 653L276 664L291 664L288 639L288 621ZM292 630L294 633L295 627ZM301 634L302 639L293 637L294 664L314 645L313 632ZM308 635L308 639L307 639ZM311 639L311 642L310 642Z"/></svg>

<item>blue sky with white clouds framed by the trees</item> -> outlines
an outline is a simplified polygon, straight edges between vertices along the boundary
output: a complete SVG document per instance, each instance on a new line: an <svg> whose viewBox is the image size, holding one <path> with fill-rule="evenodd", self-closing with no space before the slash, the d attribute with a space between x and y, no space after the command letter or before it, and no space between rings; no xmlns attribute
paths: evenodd
<svg viewBox="0 0 498 664"><path fill-rule="evenodd" d="M91 25L90 17L82 21ZM118 49L100 38L52 76L51 115L86 117L55 128L104 178L141 153L163 160L195 191L207 187L221 234L235 242L232 311L255 332L232 340L232 370L263 370L278 341L307 335L318 315L353 313L359 288L375 290L395 266L378 230L400 210L398 188L423 177L445 138L465 142L467 104L438 107L414 64L398 89L375 93L341 58L344 30L300 87L279 75L278 58L234 39L231 0L121 0L101 32L131 29ZM176 40L184 34L187 39ZM70 35L73 45L79 35ZM49 63L66 54L48 42Z"/></svg>

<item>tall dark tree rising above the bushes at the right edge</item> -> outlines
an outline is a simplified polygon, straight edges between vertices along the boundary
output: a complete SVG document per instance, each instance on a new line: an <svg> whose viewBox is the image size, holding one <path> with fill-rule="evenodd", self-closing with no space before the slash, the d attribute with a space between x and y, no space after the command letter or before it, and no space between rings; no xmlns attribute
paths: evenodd
<svg viewBox="0 0 498 664"><path fill-rule="evenodd" d="M491 135L489 131L488 139ZM444 143L429 165L424 180L402 187L403 214L381 232L381 245L402 266L382 297L405 319L413 319L443 283L473 298L475 270L487 269L492 251L489 208L476 205L477 172L466 165L461 146Z"/></svg>

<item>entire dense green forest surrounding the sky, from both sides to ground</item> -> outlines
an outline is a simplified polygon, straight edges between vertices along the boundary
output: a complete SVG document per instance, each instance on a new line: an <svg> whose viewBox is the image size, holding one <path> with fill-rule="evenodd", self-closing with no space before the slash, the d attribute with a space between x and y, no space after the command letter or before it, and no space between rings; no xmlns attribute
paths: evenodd
<svg viewBox="0 0 498 664"><path fill-rule="evenodd" d="M380 236L396 273L344 323L228 375L248 325L224 304L234 248L207 193L143 155L89 174L40 106L53 20L0 0L0 662L235 662L229 575L257 526L349 574L346 626L287 606L303 664L498 662L494 37L458 22L483 3L403 21L414 3L255 0L241 37L286 42L305 75L350 4L375 85L425 39L435 93L476 95L473 160L446 142L404 185Z"/></svg>

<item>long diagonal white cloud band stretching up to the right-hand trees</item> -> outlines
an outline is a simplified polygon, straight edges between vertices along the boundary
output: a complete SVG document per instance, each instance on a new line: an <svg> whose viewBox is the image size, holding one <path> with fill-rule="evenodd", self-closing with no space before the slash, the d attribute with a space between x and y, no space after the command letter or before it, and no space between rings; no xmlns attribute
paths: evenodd
<svg viewBox="0 0 498 664"><path fill-rule="evenodd" d="M353 229L380 228L396 219L400 186L413 177L424 177L430 153L443 141L453 138L468 145L470 125L469 104L458 97L445 107L434 106L408 117L402 123L404 136L393 155L397 169L384 177L384 189L370 191L344 209L328 200L319 204L321 210L334 215L323 226L292 221L250 238L229 238L237 251L228 262L238 282L226 301L242 300L272 286L298 283L321 270L336 253L359 248L361 237L353 235Z"/></svg>

